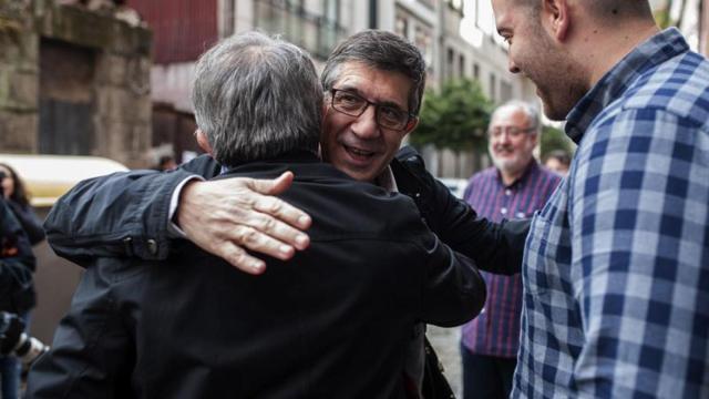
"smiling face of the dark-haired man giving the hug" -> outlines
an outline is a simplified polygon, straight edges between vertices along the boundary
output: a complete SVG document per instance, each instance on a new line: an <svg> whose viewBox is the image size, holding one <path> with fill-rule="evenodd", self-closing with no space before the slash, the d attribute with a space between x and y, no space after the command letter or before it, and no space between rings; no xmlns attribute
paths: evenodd
<svg viewBox="0 0 709 399"><path fill-rule="evenodd" d="M356 61L346 62L340 66L332 88L409 112L412 82L399 72L378 70ZM325 103L322 157L358 181L372 182L379 176L403 137L417 124L412 119L403 131L384 129L377 124L373 105L369 105L360 116L349 116L332 109L329 94Z"/></svg>

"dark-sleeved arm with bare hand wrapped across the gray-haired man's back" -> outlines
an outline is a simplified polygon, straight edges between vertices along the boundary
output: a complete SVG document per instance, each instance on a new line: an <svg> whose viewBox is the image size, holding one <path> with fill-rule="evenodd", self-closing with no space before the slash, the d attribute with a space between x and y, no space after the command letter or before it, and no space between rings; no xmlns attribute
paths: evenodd
<svg viewBox="0 0 709 399"><path fill-rule="evenodd" d="M84 266L96 256L164 259L177 222L186 238L255 274L265 264L245 249L285 259L308 245L300 229L309 226L309 216L271 196L288 188L291 174L275 181L199 181L218 173L219 165L205 155L173 172L133 171L81 182L50 212L48 241L59 255ZM171 201L185 181L171 219Z"/></svg>

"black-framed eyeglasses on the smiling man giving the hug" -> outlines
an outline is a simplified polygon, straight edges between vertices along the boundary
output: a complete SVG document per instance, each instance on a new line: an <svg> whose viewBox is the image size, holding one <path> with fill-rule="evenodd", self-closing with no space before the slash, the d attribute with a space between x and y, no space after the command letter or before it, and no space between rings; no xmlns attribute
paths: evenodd
<svg viewBox="0 0 709 399"><path fill-rule="evenodd" d="M331 89L330 94L335 111L349 116L360 116L369 105L372 105L377 124L384 129L402 131L407 129L409 121L415 117L397 106L373 103L348 90Z"/></svg>

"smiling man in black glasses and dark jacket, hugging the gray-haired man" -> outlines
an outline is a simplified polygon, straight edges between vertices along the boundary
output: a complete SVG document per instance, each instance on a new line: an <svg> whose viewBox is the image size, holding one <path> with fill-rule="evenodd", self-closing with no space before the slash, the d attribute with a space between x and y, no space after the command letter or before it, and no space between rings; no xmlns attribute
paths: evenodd
<svg viewBox="0 0 709 399"><path fill-rule="evenodd" d="M477 219L425 171L415 152L399 150L418 124L425 85L425 64L414 45L386 31L357 33L333 50L320 80L326 161L358 181L412 197L431 231L481 268L518 272L528 223ZM287 259L294 248L307 247L307 236L298 231L307 227L307 215L261 195L281 192L291 176L198 181L219 171L204 156L171 173L135 171L83 182L48 217L49 241L60 255L86 264L94 256L164 259L172 239L182 235L251 274L264 273L266 264L245 249ZM423 340L421 327L411 340L407 370L414 396L422 387ZM431 365L435 371L438 362ZM434 380L428 376L427 382ZM432 389L423 385L427 398L435 397Z"/></svg>

